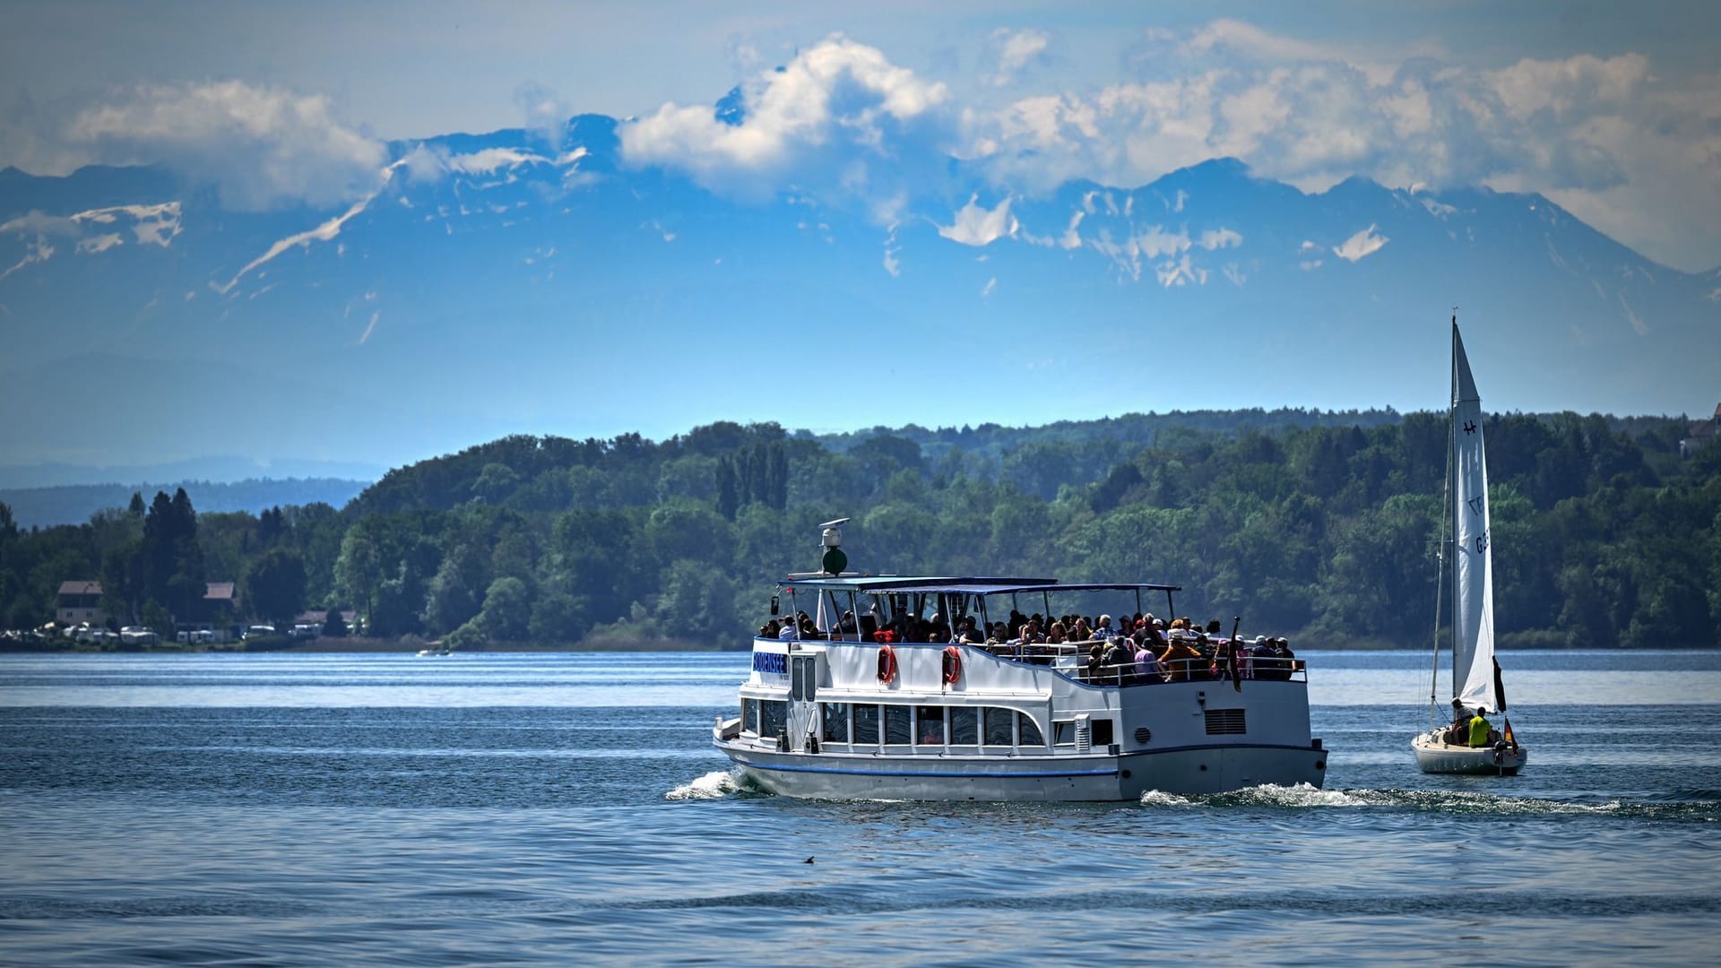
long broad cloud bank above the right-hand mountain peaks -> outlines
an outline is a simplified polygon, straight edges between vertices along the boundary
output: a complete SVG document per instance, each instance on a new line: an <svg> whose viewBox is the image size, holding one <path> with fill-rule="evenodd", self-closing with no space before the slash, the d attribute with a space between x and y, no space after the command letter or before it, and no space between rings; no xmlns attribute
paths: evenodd
<svg viewBox="0 0 1721 968"><path fill-rule="evenodd" d="M1344 48L1237 21L1144 31L1129 78L967 109L965 157L1000 189L1136 186L1213 157L1305 191L1487 184L1549 195L1683 269L1721 260L1721 74L1640 53L1473 69L1427 45Z"/></svg>

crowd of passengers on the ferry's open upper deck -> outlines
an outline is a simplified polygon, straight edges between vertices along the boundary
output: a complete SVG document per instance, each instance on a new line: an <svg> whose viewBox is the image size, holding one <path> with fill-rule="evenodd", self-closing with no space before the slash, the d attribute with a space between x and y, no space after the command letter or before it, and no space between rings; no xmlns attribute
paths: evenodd
<svg viewBox="0 0 1721 968"><path fill-rule="evenodd" d="M867 622L874 625L876 622ZM835 637L855 641L860 624L852 611L838 618ZM1010 630L1015 630L1014 634ZM1301 668L1291 642L1282 637L1255 636L1227 639L1213 618L1198 627L1187 617L1165 620L1151 611L1124 615L1113 624L1110 615L1089 620L1084 615L1060 615L1050 622L1038 611L1010 611L1009 622L993 622L981 630L972 615L952 627L933 615L931 620L904 617L873 632L879 644L933 642L967 644L1014 661L1058 665L1077 679L1103 686L1151 686L1160 682L1196 682L1213 679L1291 679ZM762 639L811 641L833 637L819 630L805 613L771 618L759 629Z"/></svg>

